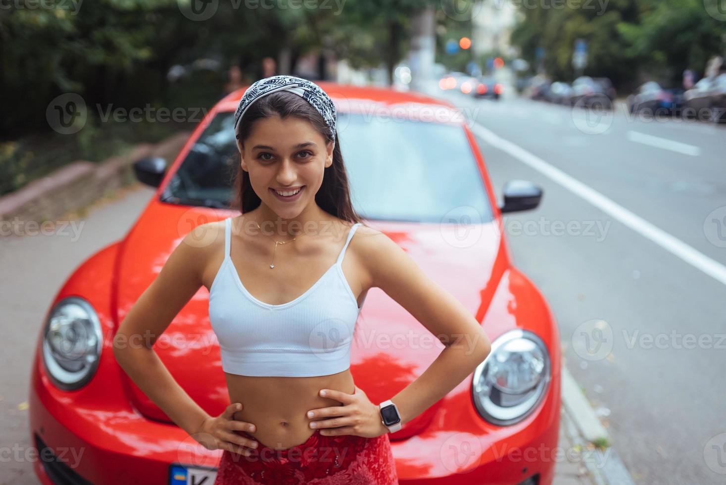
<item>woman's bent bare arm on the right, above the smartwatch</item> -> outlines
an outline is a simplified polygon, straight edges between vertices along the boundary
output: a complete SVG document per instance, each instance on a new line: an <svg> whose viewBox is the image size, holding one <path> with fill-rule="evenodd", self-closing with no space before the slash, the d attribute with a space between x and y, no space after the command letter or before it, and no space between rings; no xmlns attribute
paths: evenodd
<svg viewBox="0 0 726 485"><path fill-rule="evenodd" d="M466 307L431 280L390 237L378 232L361 241L368 284L385 291L445 346L419 378L390 398L404 424L456 387L484 361L492 347Z"/></svg>

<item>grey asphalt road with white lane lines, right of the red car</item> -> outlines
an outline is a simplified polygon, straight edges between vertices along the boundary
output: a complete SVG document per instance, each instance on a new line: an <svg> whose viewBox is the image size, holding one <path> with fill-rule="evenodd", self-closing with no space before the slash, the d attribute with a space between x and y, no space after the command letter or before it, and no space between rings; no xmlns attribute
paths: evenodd
<svg viewBox="0 0 726 485"><path fill-rule="evenodd" d="M510 179L542 187L505 216L514 263L634 481L724 483L726 127L438 95L470 117L500 204Z"/></svg>

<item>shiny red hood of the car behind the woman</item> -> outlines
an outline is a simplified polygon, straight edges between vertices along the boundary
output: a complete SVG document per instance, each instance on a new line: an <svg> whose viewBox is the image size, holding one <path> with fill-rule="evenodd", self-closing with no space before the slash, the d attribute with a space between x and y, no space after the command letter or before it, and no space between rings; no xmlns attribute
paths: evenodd
<svg viewBox="0 0 726 485"><path fill-rule="evenodd" d="M154 205L152 203L152 205ZM155 280L168 256L197 224L235 213L189 211L157 204L144 212L123 241L116 266L117 325ZM203 213L201 218L199 214ZM190 219L189 219L190 218ZM181 221L195 221L188 224ZM461 301L481 322L504 270L500 232L495 223L477 224L462 237L461 227L366 221L407 251L432 280ZM380 288L371 288L359 315L351 345L351 374L371 402L390 399L418 378L439 356L443 344ZM155 343L155 351L177 383L210 415L229 404L219 357L219 344L208 314L208 290L201 287ZM385 376L382 379L381 376ZM143 415L170 422L124 375L129 399ZM425 428L436 412L434 404L392 435L402 439Z"/></svg>

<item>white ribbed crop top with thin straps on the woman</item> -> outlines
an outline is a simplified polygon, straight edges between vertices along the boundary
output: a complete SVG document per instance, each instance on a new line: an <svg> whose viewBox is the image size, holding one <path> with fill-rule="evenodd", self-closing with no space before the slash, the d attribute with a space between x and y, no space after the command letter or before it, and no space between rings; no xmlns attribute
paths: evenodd
<svg viewBox="0 0 726 485"><path fill-rule="evenodd" d="M209 321L224 372L310 377L348 369L363 304L358 306L342 262L360 223L348 231L335 264L305 293L281 305L259 301L242 285L229 257L231 218L224 224L224 261L209 290Z"/></svg>

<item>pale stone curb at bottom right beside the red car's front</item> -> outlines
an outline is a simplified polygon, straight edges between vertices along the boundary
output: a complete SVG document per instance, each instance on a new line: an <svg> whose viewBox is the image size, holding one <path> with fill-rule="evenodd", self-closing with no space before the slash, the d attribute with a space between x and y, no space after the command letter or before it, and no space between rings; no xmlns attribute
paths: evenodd
<svg viewBox="0 0 726 485"><path fill-rule="evenodd" d="M591 448L592 442L606 439L606 449L592 449L592 455L583 460L597 485L634 485L618 453L610 442L610 435L595 415L587 397L582 394L576 380L567 367L562 366L563 426L573 444L583 449Z"/></svg>

